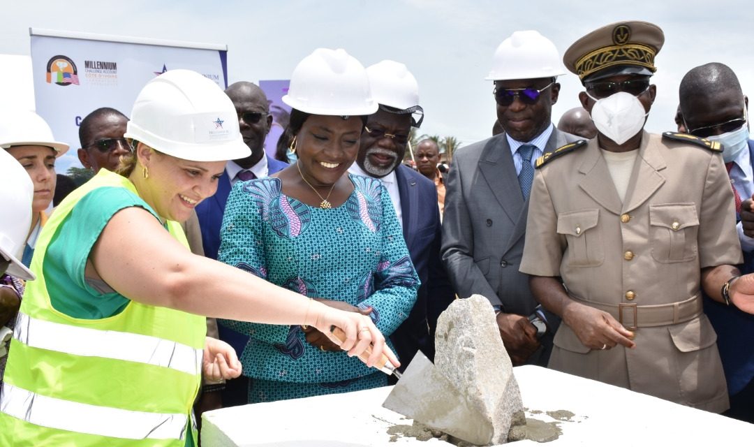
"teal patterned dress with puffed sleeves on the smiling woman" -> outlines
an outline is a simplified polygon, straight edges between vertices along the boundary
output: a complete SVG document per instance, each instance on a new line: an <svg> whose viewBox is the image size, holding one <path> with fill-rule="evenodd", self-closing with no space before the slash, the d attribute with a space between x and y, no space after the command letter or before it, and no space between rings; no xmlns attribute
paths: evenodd
<svg viewBox="0 0 754 447"><path fill-rule="evenodd" d="M329 210L283 194L280 179L236 183L218 260L302 295L371 307L387 338L411 311L419 280L382 182L349 178L354 191ZM250 337L240 355L250 403L387 384L356 357L312 346L300 326L218 321Z"/></svg>

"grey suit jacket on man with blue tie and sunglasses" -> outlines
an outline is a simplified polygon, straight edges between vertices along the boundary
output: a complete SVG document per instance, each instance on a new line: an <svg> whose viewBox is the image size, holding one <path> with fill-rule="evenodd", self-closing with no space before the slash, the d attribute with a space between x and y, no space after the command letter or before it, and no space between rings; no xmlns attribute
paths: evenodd
<svg viewBox="0 0 754 447"><path fill-rule="evenodd" d="M577 141L553 129L544 152ZM526 214L505 134L458 150L446 175L442 256L460 298L484 295L510 314L532 314L529 276L519 272Z"/></svg>

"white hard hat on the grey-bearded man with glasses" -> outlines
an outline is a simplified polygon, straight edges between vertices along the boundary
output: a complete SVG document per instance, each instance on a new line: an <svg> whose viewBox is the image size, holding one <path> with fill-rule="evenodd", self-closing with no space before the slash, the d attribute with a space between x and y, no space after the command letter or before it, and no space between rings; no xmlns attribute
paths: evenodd
<svg viewBox="0 0 754 447"><path fill-rule="evenodd" d="M412 118L415 127L421 125L424 110L419 106L419 86L405 65L394 60L383 60L367 67L366 74L369 75L372 98L380 106L398 109L399 113L420 114L418 121Z"/></svg>

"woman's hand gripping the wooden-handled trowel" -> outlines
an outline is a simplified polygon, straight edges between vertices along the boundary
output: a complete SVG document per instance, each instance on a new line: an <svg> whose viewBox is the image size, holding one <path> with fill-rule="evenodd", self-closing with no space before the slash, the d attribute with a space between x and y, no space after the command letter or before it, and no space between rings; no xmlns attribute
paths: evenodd
<svg viewBox="0 0 754 447"><path fill-rule="evenodd" d="M342 311L331 306L315 307L312 305L311 311L317 316L313 326L319 329L334 344L339 344L342 350L348 351L349 356L359 356L366 351L367 347L371 346L372 354L369 355L369 358L366 360L361 359L366 363L366 366L374 366L382 358L382 354L385 354L394 366L400 366L400 362L398 362L393 351L385 345L385 336L372 323L372 318L360 313L361 310L357 313ZM345 332L345 340L341 342L332 335L332 332L330 332L332 326L336 326Z"/></svg>

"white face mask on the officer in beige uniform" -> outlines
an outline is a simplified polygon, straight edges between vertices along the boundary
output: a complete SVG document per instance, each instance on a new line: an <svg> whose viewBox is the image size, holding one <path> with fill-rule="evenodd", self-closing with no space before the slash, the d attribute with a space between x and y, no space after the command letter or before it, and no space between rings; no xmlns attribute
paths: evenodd
<svg viewBox="0 0 754 447"><path fill-rule="evenodd" d="M587 96L596 101L592 106L592 121L599 133L617 142L627 142L644 127L647 112L641 101L631 93L619 91L602 100L597 100L587 92Z"/></svg>

